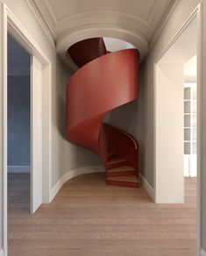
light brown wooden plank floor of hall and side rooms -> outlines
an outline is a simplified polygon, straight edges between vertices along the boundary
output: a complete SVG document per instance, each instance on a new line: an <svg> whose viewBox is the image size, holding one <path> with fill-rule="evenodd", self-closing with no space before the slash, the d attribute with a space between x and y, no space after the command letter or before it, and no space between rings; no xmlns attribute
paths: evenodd
<svg viewBox="0 0 206 256"><path fill-rule="evenodd" d="M28 175L10 174L9 256L195 256L195 179L185 183L185 204L154 204L84 174L32 216Z"/></svg>

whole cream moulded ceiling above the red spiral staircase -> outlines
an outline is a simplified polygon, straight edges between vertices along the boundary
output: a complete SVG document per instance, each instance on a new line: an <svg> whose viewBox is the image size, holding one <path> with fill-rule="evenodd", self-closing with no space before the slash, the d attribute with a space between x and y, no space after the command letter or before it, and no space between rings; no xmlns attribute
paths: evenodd
<svg viewBox="0 0 206 256"><path fill-rule="evenodd" d="M65 57L67 48L91 37L117 38L139 49L141 60L157 27L176 0L31 0Z"/></svg>

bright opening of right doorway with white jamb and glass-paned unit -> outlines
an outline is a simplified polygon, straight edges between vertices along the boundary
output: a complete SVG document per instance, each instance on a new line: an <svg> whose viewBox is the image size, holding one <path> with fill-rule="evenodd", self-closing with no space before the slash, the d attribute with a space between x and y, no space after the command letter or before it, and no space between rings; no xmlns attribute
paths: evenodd
<svg viewBox="0 0 206 256"><path fill-rule="evenodd" d="M196 188L185 178L196 174L196 35L194 17L155 65L157 203L187 202Z"/></svg>

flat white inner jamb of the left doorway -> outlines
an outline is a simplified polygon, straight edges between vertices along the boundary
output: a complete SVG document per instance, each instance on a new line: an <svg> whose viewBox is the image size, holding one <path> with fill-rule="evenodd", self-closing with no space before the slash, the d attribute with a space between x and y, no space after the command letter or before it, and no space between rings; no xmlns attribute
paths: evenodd
<svg viewBox="0 0 206 256"><path fill-rule="evenodd" d="M31 60L31 213L42 203L42 145L41 145L41 87L42 65Z"/></svg>

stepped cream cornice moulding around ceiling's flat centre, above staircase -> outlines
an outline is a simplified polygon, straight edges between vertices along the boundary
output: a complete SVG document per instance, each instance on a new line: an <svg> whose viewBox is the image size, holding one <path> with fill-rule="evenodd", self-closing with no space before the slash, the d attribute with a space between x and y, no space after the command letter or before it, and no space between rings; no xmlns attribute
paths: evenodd
<svg viewBox="0 0 206 256"><path fill-rule="evenodd" d="M132 13L129 11L125 12L124 9L119 11L116 9L85 11L83 8L75 8L75 13L71 13L69 10L59 13L58 1L27 1L32 2L36 6L41 19L56 40L57 51L65 59L67 48L72 43L77 42L77 40L97 36L115 37L128 41L133 46L139 48L142 57L146 56L149 44L152 46L153 42L158 38L162 27L167 22L167 17L172 12L171 9L174 8L174 5L179 0L153 1L153 4L150 6L151 11L149 11L144 19L140 18L143 17L141 15L135 15L135 11L134 13L133 11L131 11ZM69 6L69 3L73 3L72 1L67 1L66 7ZM134 4L133 7L135 6ZM74 6L71 5L72 7ZM65 50L64 53L62 53L62 49ZM141 50L143 51L142 53Z"/></svg>

